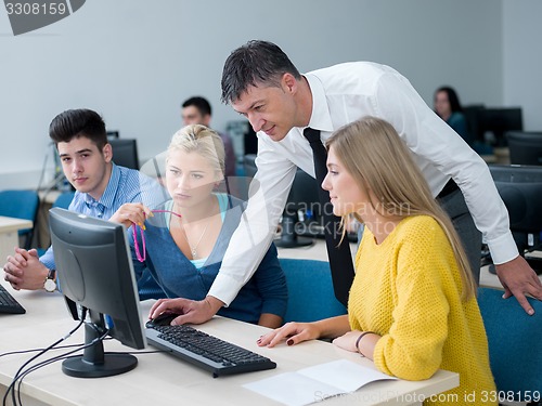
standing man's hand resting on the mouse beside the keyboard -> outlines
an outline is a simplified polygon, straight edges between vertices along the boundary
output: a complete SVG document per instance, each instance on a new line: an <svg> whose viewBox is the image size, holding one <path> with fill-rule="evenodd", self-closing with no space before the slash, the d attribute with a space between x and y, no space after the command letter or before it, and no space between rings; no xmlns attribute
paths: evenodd
<svg viewBox="0 0 542 406"><path fill-rule="evenodd" d="M180 316L171 322L171 325L186 323L202 324L209 320L222 307L224 303L208 296L204 300L190 299L160 299L151 307L149 318L155 318L164 312L179 313Z"/></svg>

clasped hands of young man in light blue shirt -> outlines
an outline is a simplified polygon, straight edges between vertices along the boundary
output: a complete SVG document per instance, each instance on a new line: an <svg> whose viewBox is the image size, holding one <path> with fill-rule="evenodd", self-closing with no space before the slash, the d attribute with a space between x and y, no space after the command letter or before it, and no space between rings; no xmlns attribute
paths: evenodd
<svg viewBox="0 0 542 406"><path fill-rule="evenodd" d="M49 270L39 262L38 252L23 248L15 248L15 254L8 257L3 265L4 279L13 289L38 290L43 289L43 283Z"/></svg>

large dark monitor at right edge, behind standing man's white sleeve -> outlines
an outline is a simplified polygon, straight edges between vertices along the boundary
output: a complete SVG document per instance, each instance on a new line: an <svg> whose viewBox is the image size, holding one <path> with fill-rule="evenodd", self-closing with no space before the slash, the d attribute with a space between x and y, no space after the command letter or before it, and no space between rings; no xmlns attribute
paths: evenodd
<svg viewBox="0 0 542 406"><path fill-rule="evenodd" d="M525 257L530 251L540 250L542 167L492 165L489 168L508 210L509 226L519 253ZM537 273L542 271L541 259L526 259Z"/></svg>

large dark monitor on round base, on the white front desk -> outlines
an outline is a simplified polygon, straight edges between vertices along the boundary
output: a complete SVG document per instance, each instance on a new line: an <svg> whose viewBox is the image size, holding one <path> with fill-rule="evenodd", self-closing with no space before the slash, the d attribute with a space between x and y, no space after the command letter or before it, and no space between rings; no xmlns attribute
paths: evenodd
<svg viewBox="0 0 542 406"><path fill-rule="evenodd" d="M133 355L104 353L107 335L133 349L144 349L131 256L121 224L53 208L51 243L62 293L75 319L86 309L83 354L64 361L62 370L80 378L107 377L133 369Z"/></svg>

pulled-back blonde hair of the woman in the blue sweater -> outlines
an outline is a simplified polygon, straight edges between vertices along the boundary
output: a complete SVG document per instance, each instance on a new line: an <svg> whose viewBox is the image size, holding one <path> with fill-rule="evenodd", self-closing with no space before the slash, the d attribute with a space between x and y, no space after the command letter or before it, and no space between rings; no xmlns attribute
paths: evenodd
<svg viewBox="0 0 542 406"><path fill-rule="evenodd" d="M171 137L166 162L172 150L199 154L211 163L221 178L223 176L225 167L224 144L215 130L202 125L185 126Z"/></svg>

